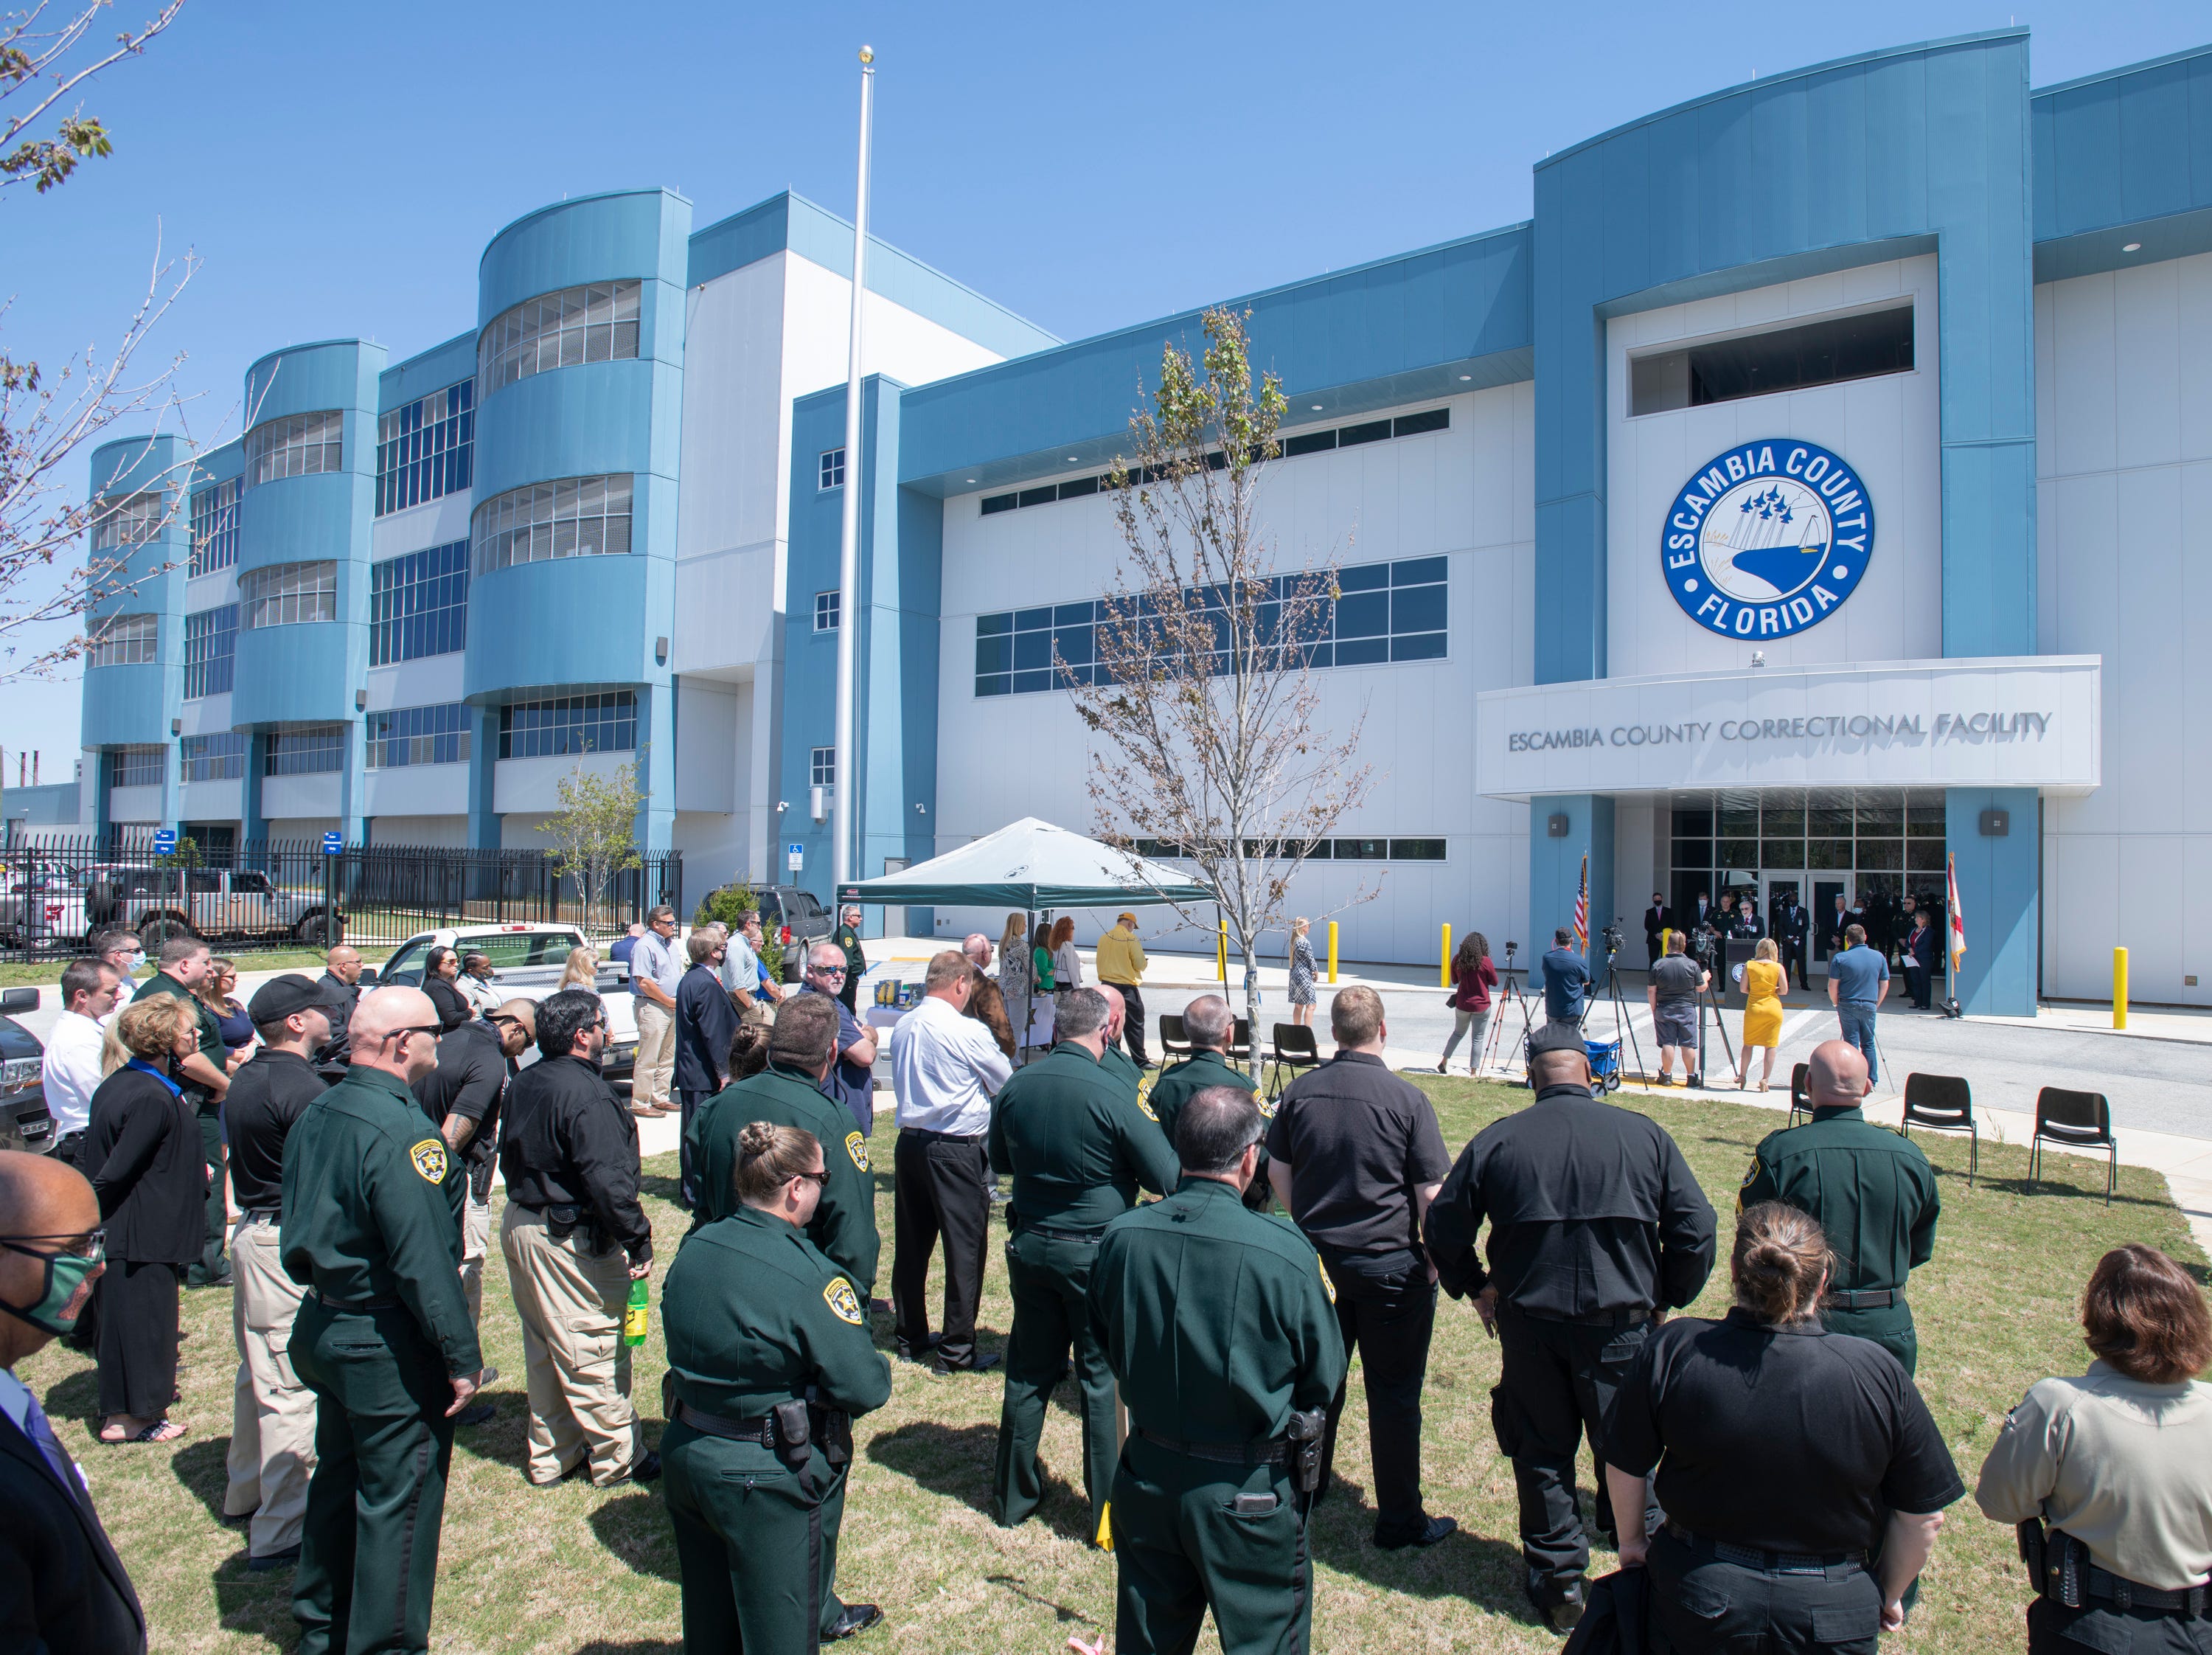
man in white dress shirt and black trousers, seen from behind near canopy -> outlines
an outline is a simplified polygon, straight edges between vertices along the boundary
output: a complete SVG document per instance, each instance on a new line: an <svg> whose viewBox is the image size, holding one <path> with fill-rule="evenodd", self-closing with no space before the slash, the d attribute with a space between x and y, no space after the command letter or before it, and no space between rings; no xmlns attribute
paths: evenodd
<svg viewBox="0 0 2212 1655"><path fill-rule="evenodd" d="M898 1354L936 1354L945 1372L982 1372L1000 1356L975 1354L984 1239L991 1228L991 1166L984 1133L991 1097L1013 1066L991 1031L967 1016L975 967L947 949L929 960L922 1002L891 1029L891 1308ZM929 1255L945 1239L945 1321L929 1334Z"/></svg>

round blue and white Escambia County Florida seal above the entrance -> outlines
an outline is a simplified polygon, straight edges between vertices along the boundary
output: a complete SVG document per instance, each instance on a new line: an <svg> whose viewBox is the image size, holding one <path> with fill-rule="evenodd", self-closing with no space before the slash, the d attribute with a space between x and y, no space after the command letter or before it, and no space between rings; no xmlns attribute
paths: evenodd
<svg viewBox="0 0 2212 1655"><path fill-rule="evenodd" d="M1790 637L1827 620L1867 573L1874 502L1838 456L1787 436L1712 458L1668 507L1661 575L1721 637Z"/></svg>

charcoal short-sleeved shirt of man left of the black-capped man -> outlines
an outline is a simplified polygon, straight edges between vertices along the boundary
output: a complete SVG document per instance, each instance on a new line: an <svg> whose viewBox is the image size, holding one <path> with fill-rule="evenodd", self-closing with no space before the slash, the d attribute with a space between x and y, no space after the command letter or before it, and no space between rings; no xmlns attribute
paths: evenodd
<svg viewBox="0 0 2212 1655"><path fill-rule="evenodd" d="M1267 1155L1290 1166L1290 1217L1327 1255L1418 1248L1413 1190L1451 1170L1427 1093L1371 1051L1298 1075L1267 1124Z"/></svg>

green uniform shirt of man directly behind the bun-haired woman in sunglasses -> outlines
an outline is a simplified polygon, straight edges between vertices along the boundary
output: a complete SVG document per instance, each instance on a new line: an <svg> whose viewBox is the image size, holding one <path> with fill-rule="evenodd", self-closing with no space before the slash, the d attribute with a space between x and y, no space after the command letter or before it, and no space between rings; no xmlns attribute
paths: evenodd
<svg viewBox="0 0 2212 1655"><path fill-rule="evenodd" d="M814 1082L796 1069L770 1064L748 1080L723 1086L692 1115L690 1133L686 1133L692 1146L699 1201L692 1212L692 1235L739 1210L737 1135L757 1120L772 1126L799 1126L821 1139L830 1182L823 1186L821 1206L814 1208L814 1221L807 1226L807 1241L852 1277L865 1301L876 1290L876 1263L883 1257L883 1237L876 1230L876 1175L867 1166L867 1139L854 1131L852 1115L814 1091Z"/></svg>

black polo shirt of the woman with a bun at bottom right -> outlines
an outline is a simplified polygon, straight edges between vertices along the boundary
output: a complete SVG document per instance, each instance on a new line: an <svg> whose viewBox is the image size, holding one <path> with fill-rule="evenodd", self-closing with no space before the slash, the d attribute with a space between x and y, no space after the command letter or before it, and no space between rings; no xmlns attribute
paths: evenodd
<svg viewBox="0 0 2212 1655"><path fill-rule="evenodd" d="M1871 1551L1891 1511L1942 1511L1966 1493L1896 1356L1747 1310L1652 1334L1604 1440L1606 1463L1630 1476L1659 1467L1668 1518L1736 1547Z"/></svg>

